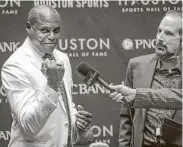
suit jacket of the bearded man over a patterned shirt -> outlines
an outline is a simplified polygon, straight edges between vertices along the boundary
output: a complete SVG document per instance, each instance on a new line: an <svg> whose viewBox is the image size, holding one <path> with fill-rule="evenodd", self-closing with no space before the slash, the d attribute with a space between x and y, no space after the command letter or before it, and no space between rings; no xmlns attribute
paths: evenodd
<svg viewBox="0 0 183 147"><path fill-rule="evenodd" d="M131 59L129 61L126 73L126 86L129 86L131 88L150 88L156 64L157 56L155 54L140 56ZM133 141L134 147L142 146L144 122L146 119L146 109L135 108L132 110L133 129L127 105L126 103L122 102L120 113L121 123L119 131L119 147L130 147L131 141ZM178 117L178 119L182 120L182 118L180 117ZM133 139L132 131L134 131Z"/></svg>

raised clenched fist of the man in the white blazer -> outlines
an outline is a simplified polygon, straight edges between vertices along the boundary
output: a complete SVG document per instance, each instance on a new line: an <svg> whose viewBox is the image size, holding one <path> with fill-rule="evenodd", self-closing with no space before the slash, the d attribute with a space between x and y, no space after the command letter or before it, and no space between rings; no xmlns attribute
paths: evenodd
<svg viewBox="0 0 183 147"><path fill-rule="evenodd" d="M48 85L55 91L58 91L60 81L62 80L65 72L63 63L46 59L42 63L42 70L48 79Z"/></svg>

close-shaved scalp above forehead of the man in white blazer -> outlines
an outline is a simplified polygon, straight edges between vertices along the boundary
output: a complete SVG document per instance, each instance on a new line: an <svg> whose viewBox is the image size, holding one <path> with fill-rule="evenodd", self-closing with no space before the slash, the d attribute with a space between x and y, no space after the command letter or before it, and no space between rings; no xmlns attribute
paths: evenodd
<svg viewBox="0 0 183 147"><path fill-rule="evenodd" d="M60 19L59 13L48 5L38 5L33 7L28 16L28 22L30 25L33 25L35 22L38 22L42 17L56 17Z"/></svg>

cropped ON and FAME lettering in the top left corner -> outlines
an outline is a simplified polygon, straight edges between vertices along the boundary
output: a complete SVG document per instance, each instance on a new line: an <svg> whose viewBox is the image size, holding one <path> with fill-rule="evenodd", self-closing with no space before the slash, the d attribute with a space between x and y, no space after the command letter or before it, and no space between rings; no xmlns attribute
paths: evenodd
<svg viewBox="0 0 183 147"><path fill-rule="evenodd" d="M0 12L2 15L17 15L18 8L21 7L20 0L0 1Z"/></svg>

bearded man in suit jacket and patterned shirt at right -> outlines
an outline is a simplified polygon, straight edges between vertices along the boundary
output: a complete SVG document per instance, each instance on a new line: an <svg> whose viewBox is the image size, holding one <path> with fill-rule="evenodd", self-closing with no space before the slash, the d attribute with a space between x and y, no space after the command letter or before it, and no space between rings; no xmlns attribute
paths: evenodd
<svg viewBox="0 0 183 147"><path fill-rule="evenodd" d="M129 61L125 84L131 88L181 89L182 14L169 11L162 19L158 32L155 54L133 58ZM122 102L119 147L174 147L175 140L158 139L157 130L165 118L181 121L181 110L141 109L132 110L133 122L126 103ZM166 134L167 135L167 134ZM181 138L179 138L181 140ZM175 142L174 142L175 141Z"/></svg>

